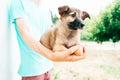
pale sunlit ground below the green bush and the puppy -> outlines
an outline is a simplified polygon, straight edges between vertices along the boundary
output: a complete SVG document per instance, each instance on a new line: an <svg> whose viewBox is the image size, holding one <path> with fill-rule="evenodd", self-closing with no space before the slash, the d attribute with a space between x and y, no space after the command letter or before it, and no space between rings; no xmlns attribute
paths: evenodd
<svg viewBox="0 0 120 80"><path fill-rule="evenodd" d="M120 80L120 42L82 42L87 56L77 62L54 63L53 80Z"/></svg>

